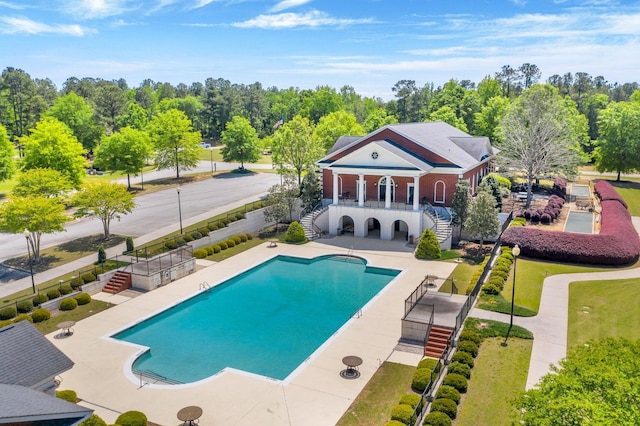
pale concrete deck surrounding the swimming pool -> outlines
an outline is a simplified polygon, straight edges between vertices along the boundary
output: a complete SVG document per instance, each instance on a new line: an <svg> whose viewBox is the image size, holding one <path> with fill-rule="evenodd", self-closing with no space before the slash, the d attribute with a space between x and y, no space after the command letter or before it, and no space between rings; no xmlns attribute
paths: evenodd
<svg viewBox="0 0 640 426"><path fill-rule="evenodd" d="M340 419L382 362L418 363L420 355L394 350L400 338L404 299L425 275L447 277L455 263L417 260L413 248L403 241L334 237L300 246L268 246L265 242L215 264L199 261L201 268L195 273L139 297L96 295L117 306L79 321L69 338L54 339L56 333L47 336L75 362L62 375L60 389L75 390L82 399L80 404L95 410L107 423L114 423L121 412L139 410L151 422L178 425L177 412L196 405L203 409L202 425L324 426ZM351 249L369 265L403 272L363 308L360 317L352 318L285 381L225 372L194 384L140 387L138 380L125 376L127 361L139 350L106 338L200 292L203 281L217 284L274 255L312 258L345 254ZM242 301L238 301L238 313L242 313ZM184 349L189 350L192 343L184 342ZM358 379L340 377L346 355L363 359Z"/></svg>

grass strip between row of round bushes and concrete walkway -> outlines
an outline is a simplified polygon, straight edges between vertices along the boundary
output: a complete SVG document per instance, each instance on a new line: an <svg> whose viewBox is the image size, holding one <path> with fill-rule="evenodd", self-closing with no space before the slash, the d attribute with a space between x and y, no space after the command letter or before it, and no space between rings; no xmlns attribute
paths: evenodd
<svg viewBox="0 0 640 426"><path fill-rule="evenodd" d="M513 399L524 392L533 340L485 339L480 346L467 393L458 407L456 426L517 424Z"/></svg>

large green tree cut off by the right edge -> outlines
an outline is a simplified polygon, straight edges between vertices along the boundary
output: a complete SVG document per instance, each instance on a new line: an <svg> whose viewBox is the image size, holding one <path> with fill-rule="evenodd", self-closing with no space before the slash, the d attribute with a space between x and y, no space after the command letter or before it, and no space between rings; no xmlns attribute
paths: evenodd
<svg viewBox="0 0 640 426"><path fill-rule="evenodd" d="M594 157L596 170L621 173L640 170L640 103L612 102L598 121L600 138Z"/></svg>

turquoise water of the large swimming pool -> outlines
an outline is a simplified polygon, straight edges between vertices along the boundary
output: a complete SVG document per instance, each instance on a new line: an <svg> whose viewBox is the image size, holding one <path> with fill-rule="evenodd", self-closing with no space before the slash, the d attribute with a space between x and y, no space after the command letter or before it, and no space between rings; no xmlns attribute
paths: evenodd
<svg viewBox="0 0 640 426"><path fill-rule="evenodd" d="M134 371L173 381L283 380L400 272L354 259L277 256L113 337L151 348Z"/></svg>

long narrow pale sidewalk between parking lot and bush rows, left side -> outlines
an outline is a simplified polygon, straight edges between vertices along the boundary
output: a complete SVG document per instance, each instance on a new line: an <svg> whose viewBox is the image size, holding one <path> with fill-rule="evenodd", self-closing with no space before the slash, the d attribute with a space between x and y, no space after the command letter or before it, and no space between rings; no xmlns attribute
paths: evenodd
<svg viewBox="0 0 640 426"><path fill-rule="evenodd" d="M266 192L264 193L266 194ZM263 194L263 195L264 195ZM216 216L218 214L224 213L226 211L232 210L236 207L240 207L243 206L247 203L250 203L252 201L255 201L256 197L252 196L252 197L248 197L245 198L243 200L238 200L234 203L230 203L218 208L215 208L213 210L208 211L207 213L203 213L199 216L194 216L191 217L189 219L185 219L183 220L183 226L187 227L189 225L192 225L194 223L198 223L200 221L203 220L207 220L212 216ZM135 247L139 247L143 244L146 244L150 241L156 240L158 238L162 238L165 235L171 233L171 232L175 232L179 229L179 224L175 223L169 226L166 226L164 228L159 228L156 229L148 234L142 235L136 239L133 240L133 244ZM106 249L107 252L107 258L111 258L111 257L115 257L116 255L120 255L122 254L122 252L126 249L126 245L125 243L119 244L117 246L111 247ZM34 281L36 283L36 285L49 281L49 280L54 280L60 276L66 275L66 274L70 274L74 271L78 271L80 269L86 268L87 266L93 265L95 263L95 261L98 259L98 253L96 252L95 254L89 255L89 256L85 256L83 258L80 259L76 259L72 262L69 263L65 263L64 265L60 265L56 268L51 268L49 270L43 271L43 272L39 272L37 274L34 274L33 278ZM17 293L18 291L24 290L26 288L31 288L31 276L27 275L24 278L21 278L19 280L15 280L15 281L11 281L9 283L3 284L0 287L0 298L5 298L7 296L11 296L14 293Z"/></svg>

